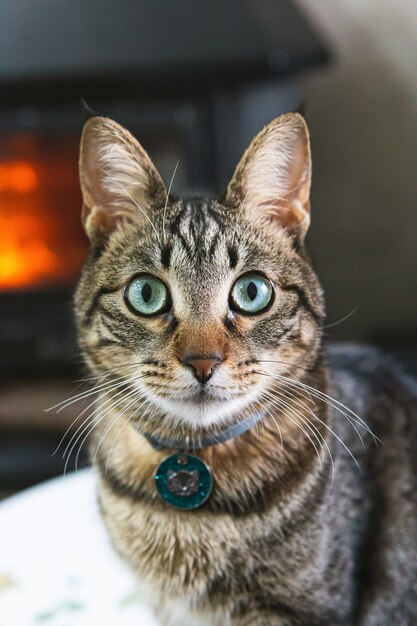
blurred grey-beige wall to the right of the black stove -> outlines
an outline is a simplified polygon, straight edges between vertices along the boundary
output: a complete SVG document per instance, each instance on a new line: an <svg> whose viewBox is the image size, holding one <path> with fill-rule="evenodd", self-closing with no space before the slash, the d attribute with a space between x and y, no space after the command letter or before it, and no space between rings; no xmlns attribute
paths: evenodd
<svg viewBox="0 0 417 626"><path fill-rule="evenodd" d="M310 243L334 337L417 333L417 2L297 0L335 53L308 79Z"/></svg>

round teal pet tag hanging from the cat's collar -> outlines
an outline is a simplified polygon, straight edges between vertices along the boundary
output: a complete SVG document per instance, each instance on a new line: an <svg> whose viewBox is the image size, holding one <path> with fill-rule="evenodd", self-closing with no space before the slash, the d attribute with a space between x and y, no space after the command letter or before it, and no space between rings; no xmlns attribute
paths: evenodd
<svg viewBox="0 0 417 626"><path fill-rule="evenodd" d="M193 454L172 454L155 472L159 495L174 509L192 510L204 504L213 488L211 470Z"/></svg>

